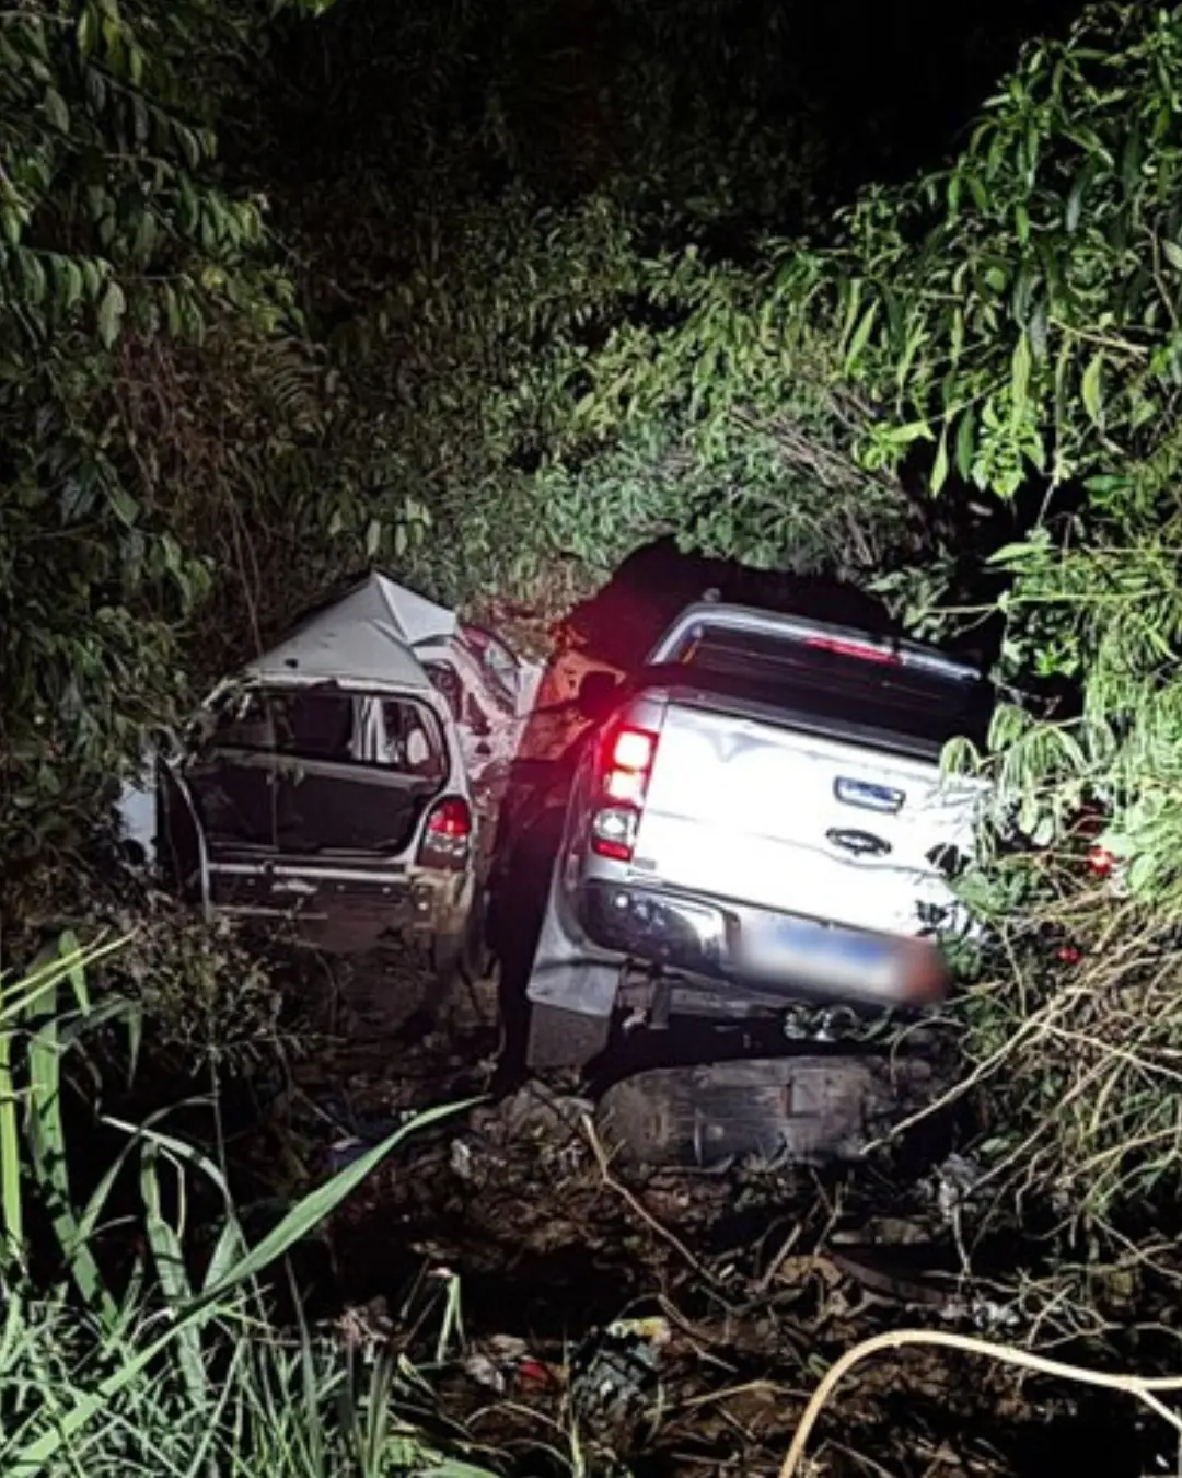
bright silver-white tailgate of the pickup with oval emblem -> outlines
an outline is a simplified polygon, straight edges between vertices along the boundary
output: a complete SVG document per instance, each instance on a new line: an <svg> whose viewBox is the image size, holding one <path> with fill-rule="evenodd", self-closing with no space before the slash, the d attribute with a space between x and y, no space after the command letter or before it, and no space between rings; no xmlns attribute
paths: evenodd
<svg viewBox="0 0 1182 1478"><path fill-rule="evenodd" d="M972 848L978 797L913 760L764 718L669 704L634 868L672 887L915 934L952 903L932 865Z"/></svg>

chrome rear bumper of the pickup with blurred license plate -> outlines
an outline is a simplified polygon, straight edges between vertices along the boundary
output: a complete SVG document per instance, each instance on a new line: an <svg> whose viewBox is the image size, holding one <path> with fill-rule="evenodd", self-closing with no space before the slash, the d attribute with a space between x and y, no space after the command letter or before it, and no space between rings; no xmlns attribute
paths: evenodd
<svg viewBox="0 0 1182 1478"><path fill-rule="evenodd" d="M922 1005L947 990L943 953L904 939L631 881L585 881L573 913L622 962L785 998Z"/></svg>

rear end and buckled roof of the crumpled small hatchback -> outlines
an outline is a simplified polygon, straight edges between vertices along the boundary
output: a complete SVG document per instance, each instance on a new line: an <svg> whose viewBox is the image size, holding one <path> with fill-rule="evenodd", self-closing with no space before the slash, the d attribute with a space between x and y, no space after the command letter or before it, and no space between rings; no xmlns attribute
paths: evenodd
<svg viewBox="0 0 1182 1478"><path fill-rule="evenodd" d="M177 884L207 909L368 918L454 964L476 922L480 817L420 655L454 631L451 612L371 576L222 684L158 788Z"/></svg>

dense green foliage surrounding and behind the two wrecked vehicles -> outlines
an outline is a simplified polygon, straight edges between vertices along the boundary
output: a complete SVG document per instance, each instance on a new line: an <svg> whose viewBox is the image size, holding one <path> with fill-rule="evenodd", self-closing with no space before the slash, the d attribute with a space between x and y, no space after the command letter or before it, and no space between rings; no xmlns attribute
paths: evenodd
<svg viewBox="0 0 1182 1478"><path fill-rule="evenodd" d="M841 3L319 9L0 15L4 913L77 902L145 736L362 563L541 606L662 535L851 576L1077 690L962 760L1043 844L1107 806L1130 897L972 879L1018 918L974 1082L1068 1215L1169 1190L1182 6L1017 61L981 6L926 81Z"/></svg>

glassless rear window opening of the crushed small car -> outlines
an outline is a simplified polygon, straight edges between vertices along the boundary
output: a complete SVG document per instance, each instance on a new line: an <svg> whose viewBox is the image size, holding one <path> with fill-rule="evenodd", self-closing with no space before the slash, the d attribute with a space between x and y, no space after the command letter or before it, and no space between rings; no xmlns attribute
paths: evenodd
<svg viewBox="0 0 1182 1478"><path fill-rule="evenodd" d="M431 780L446 770L434 714L414 699L381 693L254 689L222 712L213 746Z"/></svg>

